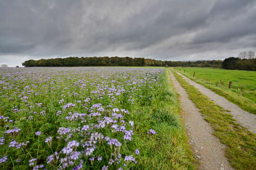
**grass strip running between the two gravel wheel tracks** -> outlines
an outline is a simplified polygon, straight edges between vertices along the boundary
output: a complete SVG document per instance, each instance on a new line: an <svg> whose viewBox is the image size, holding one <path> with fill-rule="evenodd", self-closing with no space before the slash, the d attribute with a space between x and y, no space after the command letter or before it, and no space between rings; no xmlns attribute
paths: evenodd
<svg viewBox="0 0 256 170"><path fill-rule="evenodd" d="M174 71L173 73L215 130L214 135L227 145L226 156L231 165L237 170L256 170L256 135L239 126L223 108L210 101Z"/></svg>

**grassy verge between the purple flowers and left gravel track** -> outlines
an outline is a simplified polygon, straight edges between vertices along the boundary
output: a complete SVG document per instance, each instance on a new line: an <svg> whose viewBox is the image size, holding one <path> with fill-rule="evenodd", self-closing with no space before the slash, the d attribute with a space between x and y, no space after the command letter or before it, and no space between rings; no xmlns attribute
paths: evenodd
<svg viewBox="0 0 256 170"><path fill-rule="evenodd" d="M159 91L150 92L154 93L151 105L137 108L143 113L137 114L136 119L141 122L137 131L153 127L157 132L154 138L140 135L137 138L138 141L134 141L143 152L138 159L140 161L136 165L137 170L196 169L188 137L182 125L182 119L180 119L179 103L167 74L165 72L163 86L159 88Z"/></svg>

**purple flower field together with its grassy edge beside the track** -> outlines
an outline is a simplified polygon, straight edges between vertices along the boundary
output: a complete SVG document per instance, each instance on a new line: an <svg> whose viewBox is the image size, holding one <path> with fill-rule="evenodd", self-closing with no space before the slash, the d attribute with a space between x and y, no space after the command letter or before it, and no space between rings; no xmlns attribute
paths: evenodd
<svg viewBox="0 0 256 170"><path fill-rule="evenodd" d="M193 169L165 74L1 68L0 169Z"/></svg>

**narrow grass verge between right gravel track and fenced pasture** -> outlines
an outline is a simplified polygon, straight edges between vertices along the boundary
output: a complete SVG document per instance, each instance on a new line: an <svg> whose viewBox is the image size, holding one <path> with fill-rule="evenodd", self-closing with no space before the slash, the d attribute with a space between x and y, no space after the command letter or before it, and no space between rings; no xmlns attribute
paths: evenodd
<svg viewBox="0 0 256 170"><path fill-rule="evenodd" d="M183 74L184 76L187 76L191 80L209 88L211 91L225 97L230 102L237 104L243 110L246 110L250 113L256 114L256 103L254 101L242 96L239 93L233 92L232 90L215 86L207 80L193 77L192 75L190 75L186 72L184 73L184 72L180 71L179 69L175 69L175 70L178 71L179 73Z"/></svg>

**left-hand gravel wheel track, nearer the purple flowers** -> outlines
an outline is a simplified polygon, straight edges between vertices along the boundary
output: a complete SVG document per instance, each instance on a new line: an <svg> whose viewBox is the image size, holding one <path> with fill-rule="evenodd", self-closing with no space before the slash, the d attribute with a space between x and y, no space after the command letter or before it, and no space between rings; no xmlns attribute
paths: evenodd
<svg viewBox="0 0 256 170"><path fill-rule="evenodd" d="M233 170L225 157L225 145L212 133L214 130L202 118L199 109L188 98L188 94L170 72L176 93L180 94L180 105L185 128L196 158L201 162L200 170Z"/></svg>

